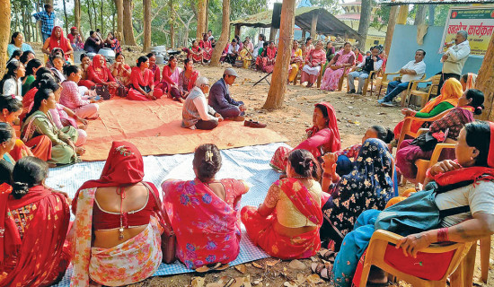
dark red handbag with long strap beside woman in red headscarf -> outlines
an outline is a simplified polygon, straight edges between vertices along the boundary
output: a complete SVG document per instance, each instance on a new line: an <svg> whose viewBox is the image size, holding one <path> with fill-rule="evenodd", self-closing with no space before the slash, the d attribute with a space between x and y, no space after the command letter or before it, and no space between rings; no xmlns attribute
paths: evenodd
<svg viewBox="0 0 494 287"><path fill-rule="evenodd" d="M168 218L168 214L163 211L161 200L156 196L153 192L153 189L149 187L146 182L142 182L145 187L149 190L149 193L153 195L154 202L158 205L158 214L160 215L160 225L163 227L162 233L162 253L163 253L163 262L164 263L172 263L177 257L175 255L176 250L176 242L177 237L175 236L175 232L172 229L172 223Z"/></svg>

